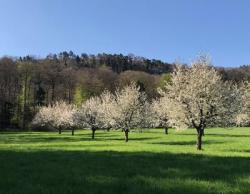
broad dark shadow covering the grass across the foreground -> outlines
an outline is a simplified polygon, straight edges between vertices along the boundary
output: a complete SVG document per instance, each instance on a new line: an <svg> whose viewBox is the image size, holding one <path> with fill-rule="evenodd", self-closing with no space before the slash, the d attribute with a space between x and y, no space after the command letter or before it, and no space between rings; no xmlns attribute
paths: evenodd
<svg viewBox="0 0 250 194"><path fill-rule="evenodd" d="M0 151L0 193L248 193L250 158L202 154ZM248 181L245 181L248 180Z"/></svg>

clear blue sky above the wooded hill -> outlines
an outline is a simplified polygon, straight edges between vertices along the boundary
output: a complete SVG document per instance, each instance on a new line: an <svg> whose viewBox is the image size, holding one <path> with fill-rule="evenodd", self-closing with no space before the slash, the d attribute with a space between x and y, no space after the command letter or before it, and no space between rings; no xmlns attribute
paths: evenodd
<svg viewBox="0 0 250 194"><path fill-rule="evenodd" d="M0 0L0 56L64 50L250 64L250 1Z"/></svg>

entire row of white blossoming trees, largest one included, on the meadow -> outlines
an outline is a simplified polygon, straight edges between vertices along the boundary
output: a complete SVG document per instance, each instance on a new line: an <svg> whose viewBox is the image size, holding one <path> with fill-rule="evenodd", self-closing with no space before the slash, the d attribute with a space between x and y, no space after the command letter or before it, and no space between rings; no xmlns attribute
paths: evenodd
<svg viewBox="0 0 250 194"><path fill-rule="evenodd" d="M158 98L148 98L145 91L132 83L104 91L80 106L58 102L42 107L33 120L34 126L59 130L89 128L94 138L97 129L122 129L125 140L134 128L193 127L197 131L197 149L208 126L245 125L250 118L250 84L240 86L223 81L207 57L199 57L191 67L177 66L171 80L159 89Z"/></svg>

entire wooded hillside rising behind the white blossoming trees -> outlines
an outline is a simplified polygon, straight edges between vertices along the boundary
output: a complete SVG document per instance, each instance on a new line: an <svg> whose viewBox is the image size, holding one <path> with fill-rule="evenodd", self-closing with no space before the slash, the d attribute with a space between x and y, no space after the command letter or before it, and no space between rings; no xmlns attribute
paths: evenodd
<svg viewBox="0 0 250 194"><path fill-rule="evenodd" d="M170 81L174 64L134 55L76 55L72 51L0 59L0 130L27 129L38 106L56 101L80 104L105 89L137 83L148 98ZM250 66L218 68L225 80L250 80Z"/></svg>

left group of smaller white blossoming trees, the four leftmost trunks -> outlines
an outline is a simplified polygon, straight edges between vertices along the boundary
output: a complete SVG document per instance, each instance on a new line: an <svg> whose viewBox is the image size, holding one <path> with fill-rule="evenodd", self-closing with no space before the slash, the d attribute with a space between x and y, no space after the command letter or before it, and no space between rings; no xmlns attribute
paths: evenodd
<svg viewBox="0 0 250 194"><path fill-rule="evenodd" d="M149 126L148 108L145 93L132 83L114 94L105 91L91 97L79 107L63 101L41 107L32 124L58 129L59 134L62 129L71 129L72 135L76 128L88 128L93 139L97 129L122 129L128 141L130 129Z"/></svg>

